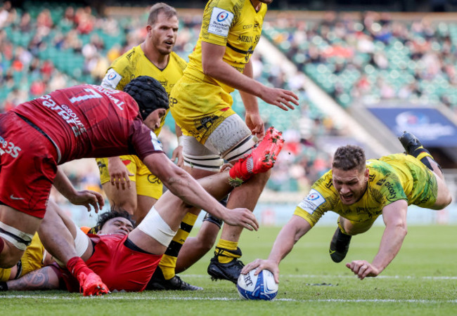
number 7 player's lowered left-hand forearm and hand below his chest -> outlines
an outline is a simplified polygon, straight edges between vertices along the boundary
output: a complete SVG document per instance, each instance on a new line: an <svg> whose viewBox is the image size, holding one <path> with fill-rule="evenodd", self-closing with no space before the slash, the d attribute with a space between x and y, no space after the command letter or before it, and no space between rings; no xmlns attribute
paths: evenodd
<svg viewBox="0 0 457 316"><path fill-rule="evenodd" d="M86 206L87 211L91 211L91 206L93 206L95 212L98 213L98 210L105 205L105 200L100 193L91 190L77 191L60 166L57 168L53 185L68 201L75 205Z"/></svg>

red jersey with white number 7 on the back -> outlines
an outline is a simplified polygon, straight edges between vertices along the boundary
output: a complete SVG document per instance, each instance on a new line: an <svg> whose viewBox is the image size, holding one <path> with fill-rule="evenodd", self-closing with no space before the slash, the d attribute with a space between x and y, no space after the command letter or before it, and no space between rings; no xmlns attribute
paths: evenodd
<svg viewBox="0 0 457 316"><path fill-rule="evenodd" d="M82 84L22 103L12 112L38 126L58 150L58 164L73 159L162 151L128 93Z"/></svg>

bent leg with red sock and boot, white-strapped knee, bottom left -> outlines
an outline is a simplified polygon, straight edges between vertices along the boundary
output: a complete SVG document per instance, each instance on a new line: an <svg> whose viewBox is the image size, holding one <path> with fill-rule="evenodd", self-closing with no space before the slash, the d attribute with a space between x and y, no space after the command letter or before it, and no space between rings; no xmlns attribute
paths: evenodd
<svg viewBox="0 0 457 316"><path fill-rule="evenodd" d="M49 201L38 233L45 249L77 278L84 296L108 293L108 287L101 278L84 263L94 249L89 237L56 203Z"/></svg>

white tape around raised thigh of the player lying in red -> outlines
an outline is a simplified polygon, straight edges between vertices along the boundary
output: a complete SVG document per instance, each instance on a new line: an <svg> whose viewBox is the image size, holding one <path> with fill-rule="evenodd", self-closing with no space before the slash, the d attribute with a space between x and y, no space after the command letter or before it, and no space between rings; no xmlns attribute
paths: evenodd
<svg viewBox="0 0 457 316"><path fill-rule="evenodd" d="M160 217L154 206L137 228L166 247L172 242L174 235L176 235L176 232Z"/></svg>

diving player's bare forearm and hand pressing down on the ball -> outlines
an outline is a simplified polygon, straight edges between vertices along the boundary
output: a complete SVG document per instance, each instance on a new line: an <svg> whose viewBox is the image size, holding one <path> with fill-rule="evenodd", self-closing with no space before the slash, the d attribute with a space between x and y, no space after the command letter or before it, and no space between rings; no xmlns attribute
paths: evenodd
<svg viewBox="0 0 457 316"><path fill-rule="evenodd" d="M290 253L298 239L310 229L311 225L306 220L300 216L292 216L276 237L268 259L256 259L252 263L248 263L241 273L246 274L250 270L257 269L255 275L258 275L264 269L269 270L273 273L275 282L279 283L279 263Z"/></svg>

